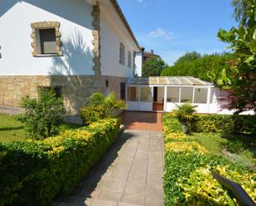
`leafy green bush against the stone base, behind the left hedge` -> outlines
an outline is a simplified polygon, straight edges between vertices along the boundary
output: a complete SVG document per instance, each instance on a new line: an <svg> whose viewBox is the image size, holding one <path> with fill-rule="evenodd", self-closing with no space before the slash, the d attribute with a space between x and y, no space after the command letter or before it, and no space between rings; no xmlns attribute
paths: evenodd
<svg viewBox="0 0 256 206"><path fill-rule="evenodd" d="M59 133L65 109L62 98L57 98L52 89L39 89L39 98L22 98L25 113L18 120L25 123L27 136L43 139Z"/></svg>

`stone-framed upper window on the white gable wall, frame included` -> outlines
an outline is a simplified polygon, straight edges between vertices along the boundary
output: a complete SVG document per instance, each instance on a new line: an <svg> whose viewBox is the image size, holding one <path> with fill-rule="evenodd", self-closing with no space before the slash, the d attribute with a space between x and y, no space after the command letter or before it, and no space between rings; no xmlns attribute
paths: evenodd
<svg viewBox="0 0 256 206"><path fill-rule="evenodd" d="M60 22L36 22L31 28L33 56L62 55Z"/></svg>

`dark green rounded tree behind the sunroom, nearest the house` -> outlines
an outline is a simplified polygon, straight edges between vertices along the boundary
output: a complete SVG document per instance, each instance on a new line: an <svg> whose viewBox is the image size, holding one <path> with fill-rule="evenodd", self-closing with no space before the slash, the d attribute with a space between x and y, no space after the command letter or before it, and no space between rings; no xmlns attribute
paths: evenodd
<svg viewBox="0 0 256 206"><path fill-rule="evenodd" d="M152 57L146 60L142 66L142 77L160 76L166 63L160 57Z"/></svg>

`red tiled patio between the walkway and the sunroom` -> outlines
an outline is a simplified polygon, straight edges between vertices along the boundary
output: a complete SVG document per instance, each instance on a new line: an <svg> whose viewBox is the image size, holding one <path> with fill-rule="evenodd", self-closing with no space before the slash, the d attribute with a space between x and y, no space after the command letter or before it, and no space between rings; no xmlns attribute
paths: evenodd
<svg viewBox="0 0 256 206"><path fill-rule="evenodd" d="M124 111L120 116L126 129L162 131L162 113Z"/></svg>

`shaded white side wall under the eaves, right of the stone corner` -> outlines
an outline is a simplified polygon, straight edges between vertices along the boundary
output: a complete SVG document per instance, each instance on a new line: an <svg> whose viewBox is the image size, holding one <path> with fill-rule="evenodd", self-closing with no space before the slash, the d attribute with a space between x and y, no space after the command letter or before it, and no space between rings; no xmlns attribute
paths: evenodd
<svg viewBox="0 0 256 206"><path fill-rule="evenodd" d="M113 6L104 2L104 9L100 12L100 45L101 45L101 71L104 75L133 77L133 53L138 46L129 35L128 30L118 17L117 12L111 12ZM124 65L119 64L120 42L125 47ZM128 67L128 51L131 52L132 65Z"/></svg>

